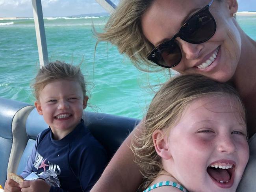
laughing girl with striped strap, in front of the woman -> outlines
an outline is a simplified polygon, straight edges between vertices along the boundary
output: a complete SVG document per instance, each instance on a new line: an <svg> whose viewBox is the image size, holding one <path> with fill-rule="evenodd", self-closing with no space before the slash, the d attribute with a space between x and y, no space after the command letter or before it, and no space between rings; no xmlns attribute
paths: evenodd
<svg viewBox="0 0 256 192"><path fill-rule="evenodd" d="M154 96L132 150L148 192L235 192L249 159L245 109L236 90L178 76Z"/></svg>

